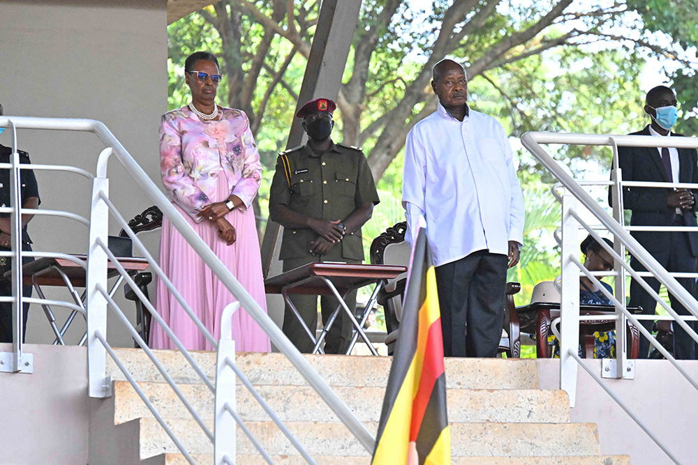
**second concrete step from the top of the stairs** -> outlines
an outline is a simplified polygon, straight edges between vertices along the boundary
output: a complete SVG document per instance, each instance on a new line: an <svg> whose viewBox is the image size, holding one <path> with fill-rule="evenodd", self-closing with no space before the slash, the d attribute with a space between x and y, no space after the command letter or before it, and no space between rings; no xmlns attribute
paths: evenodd
<svg viewBox="0 0 698 465"><path fill-rule="evenodd" d="M163 418L191 418L168 384L139 383ZM214 395L202 384L179 386L195 411L205 420L214 417ZM334 413L307 386L255 386L282 421L334 422ZM362 422L380 420L385 388L334 388ZM119 424L152 416L127 381L114 382L114 422ZM562 390L447 390L451 422L534 422L570 421L567 393ZM237 388L237 412L244 420L268 421L269 416L244 386Z"/></svg>

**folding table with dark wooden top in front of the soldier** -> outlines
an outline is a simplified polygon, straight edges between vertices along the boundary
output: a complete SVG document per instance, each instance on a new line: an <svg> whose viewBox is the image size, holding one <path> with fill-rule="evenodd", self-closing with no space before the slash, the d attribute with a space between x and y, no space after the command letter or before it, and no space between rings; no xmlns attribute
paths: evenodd
<svg viewBox="0 0 698 465"><path fill-rule="evenodd" d="M311 263L288 270L281 275L270 277L265 281L265 289L267 294L281 294L281 296L283 296L283 300L288 307L290 307L298 321L301 322L306 334L310 337L311 341L313 341L313 344L315 344L313 353L325 353L321 348L322 341L325 340L327 331L329 331L329 328L332 328L332 323L334 323L339 312L343 310L354 328L352 340L346 354L349 355L349 353L351 353L357 338L361 337L366 345L369 346L371 353L377 356L378 353L371 345L369 337L364 333L363 326L371 313L371 308L376 303L378 291L380 291L384 283L405 271L407 271L405 266L395 265L355 265L332 262ZM359 289L359 287L370 286L371 284L376 284L376 287L373 288L369 301L359 312L359 321L357 321L344 298L346 298L351 291ZM315 296L334 294L337 300L339 300L339 305L336 310L332 312L332 315L327 320L325 327L322 328L322 333L320 333L320 337L318 337L317 340L315 340L315 335L310 328L308 328L295 305L291 302L288 294L309 294Z"/></svg>

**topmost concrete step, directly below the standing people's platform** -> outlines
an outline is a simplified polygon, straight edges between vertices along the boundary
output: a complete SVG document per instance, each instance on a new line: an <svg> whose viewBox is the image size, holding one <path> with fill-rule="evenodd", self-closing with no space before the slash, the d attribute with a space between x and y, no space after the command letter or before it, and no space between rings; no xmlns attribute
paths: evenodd
<svg viewBox="0 0 698 465"><path fill-rule="evenodd" d="M136 381L164 382L144 351L115 349L119 360ZM154 351L177 383L201 383L194 369L178 351ZM191 351L191 356L212 379L216 353ZM391 357L373 356L306 356L309 363L330 386L385 387ZM305 379L281 353L246 353L236 355L237 366L254 385L306 386ZM447 388L461 389L537 389L533 359L447 358ZM107 373L115 381L126 377L107 357Z"/></svg>

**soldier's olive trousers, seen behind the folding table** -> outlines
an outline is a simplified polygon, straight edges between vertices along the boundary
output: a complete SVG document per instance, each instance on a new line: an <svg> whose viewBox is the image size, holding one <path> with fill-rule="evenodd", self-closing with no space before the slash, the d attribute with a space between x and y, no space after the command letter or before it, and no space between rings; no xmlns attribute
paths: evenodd
<svg viewBox="0 0 698 465"><path fill-rule="evenodd" d="M283 261L283 271L292 270L305 264L313 263L313 261L345 261L350 264L359 264L360 261L349 260L339 255L341 247L335 246L330 250L330 254L326 257L303 257L299 259L286 259ZM289 298L293 305L301 314L303 321L315 337L315 328L318 327L318 296L304 296L302 294L289 294ZM356 307L356 291L352 291L345 299L350 310L354 311ZM322 316L322 326L327 324L329 317L336 310L339 301L334 295L320 297L320 315ZM348 318L344 317L344 310L340 310L337 318L332 323L332 328L329 328L325 335L325 353L346 353L351 342L352 324ZM313 342L308 337L308 333L304 330L301 323L298 321L295 314L288 305L285 305L283 312L283 334L293 342L296 348L302 353L311 353L313 351Z"/></svg>

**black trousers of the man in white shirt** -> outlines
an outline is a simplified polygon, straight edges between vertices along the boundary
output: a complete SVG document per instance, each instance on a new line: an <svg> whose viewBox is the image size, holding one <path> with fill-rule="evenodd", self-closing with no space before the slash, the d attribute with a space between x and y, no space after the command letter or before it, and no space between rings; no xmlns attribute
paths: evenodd
<svg viewBox="0 0 698 465"><path fill-rule="evenodd" d="M506 255L478 250L436 267L444 356L497 356L504 323L507 263Z"/></svg>

